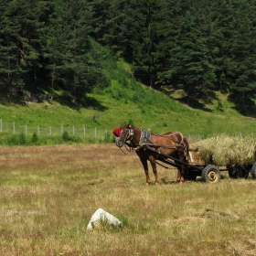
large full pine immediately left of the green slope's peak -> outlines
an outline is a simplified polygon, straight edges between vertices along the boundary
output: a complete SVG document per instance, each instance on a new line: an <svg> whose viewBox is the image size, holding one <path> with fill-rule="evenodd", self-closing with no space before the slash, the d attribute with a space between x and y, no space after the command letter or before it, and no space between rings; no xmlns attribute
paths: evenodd
<svg viewBox="0 0 256 256"><path fill-rule="evenodd" d="M48 24L45 40L50 88L53 93L56 81L71 93L79 103L86 92L101 83L103 59L95 59L97 49L89 36L92 30L92 11L86 0L56 0ZM105 85L108 82L105 81Z"/></svg>

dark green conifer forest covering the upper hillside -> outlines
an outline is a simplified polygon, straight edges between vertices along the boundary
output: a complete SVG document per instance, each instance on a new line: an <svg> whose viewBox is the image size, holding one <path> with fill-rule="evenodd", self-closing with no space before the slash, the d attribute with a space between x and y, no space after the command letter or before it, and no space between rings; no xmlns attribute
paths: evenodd
<svg viewBox="0 0 256 256"><path fill-rule="evenodd" d="M255 105L256 0L2 0L2 96L66 91L72 101L111 83L118 58L145 85Z"/></svg>

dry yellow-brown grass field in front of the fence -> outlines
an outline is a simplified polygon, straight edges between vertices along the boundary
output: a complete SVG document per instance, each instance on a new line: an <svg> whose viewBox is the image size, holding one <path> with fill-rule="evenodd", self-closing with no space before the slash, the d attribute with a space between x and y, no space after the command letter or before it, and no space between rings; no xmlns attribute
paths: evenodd
<svg viewBox="0 0 256 256"><path fill-rule="evenodd" d="M0 255L256 255L251 176L175 184L160 166L162 184L146 186L115 144L0 149ZM98 208L123 228L88 231Z"/></svg>

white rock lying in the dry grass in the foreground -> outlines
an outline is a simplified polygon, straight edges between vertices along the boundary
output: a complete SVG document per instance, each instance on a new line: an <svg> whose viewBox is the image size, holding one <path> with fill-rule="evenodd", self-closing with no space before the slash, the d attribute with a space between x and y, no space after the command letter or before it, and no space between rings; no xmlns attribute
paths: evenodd
<svg viewBox="0 0 256 256"><path fill-rule="evenodd" d="M101 208L98 208L91 216L91 220L87 225L87 230L93 229L93 227L96 226L101 221L106 221L108 224L115 226L122 226L123 224L119 219L115 218L110 213L104 211Z"/></svg>

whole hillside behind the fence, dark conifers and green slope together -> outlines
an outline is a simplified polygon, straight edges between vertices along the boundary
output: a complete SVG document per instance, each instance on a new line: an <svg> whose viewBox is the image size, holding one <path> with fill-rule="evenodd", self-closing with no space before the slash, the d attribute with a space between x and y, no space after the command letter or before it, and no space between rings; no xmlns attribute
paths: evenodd
<svg viewBox="0 0 256 256"><path fill-rule="evenodd" d="M0 119L253 135L254 2L4 1Z"/></svg>

